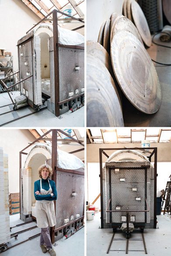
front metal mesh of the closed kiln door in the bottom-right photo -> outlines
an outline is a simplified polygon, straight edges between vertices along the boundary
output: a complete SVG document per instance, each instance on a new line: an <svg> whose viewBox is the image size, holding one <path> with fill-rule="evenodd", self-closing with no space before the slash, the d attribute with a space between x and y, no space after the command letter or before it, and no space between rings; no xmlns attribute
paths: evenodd
<svg viewBox="0 0 171 256"><path fill-rule="evenodd" d="M110 223L110 213L106 213L109 203L109 169L111 172L111 210L116 210L116 206L120 206L121 210L145 210L146 168L140 168L141 166L147 166L147 203L150 209L150 212L147 212L147 223L150 223L150 219L154 219L154 182L151 184L151 174L154 177L154 168L150 169L150 162L110 161L106 162L106 166L103 168L103 211L106 223ZM120 168L120 171L116 172L115 168ZM125 179L125 181L120 181L120 179ZM137 188L137 191L132 191L132 188ZM136 200L136 197L140 197L141 200ZM135 216L137 223L145 222L144 212L129 212L129 215ZM112 223L121 223L121 216L126 216L126 212L113 212Z"/></svg>

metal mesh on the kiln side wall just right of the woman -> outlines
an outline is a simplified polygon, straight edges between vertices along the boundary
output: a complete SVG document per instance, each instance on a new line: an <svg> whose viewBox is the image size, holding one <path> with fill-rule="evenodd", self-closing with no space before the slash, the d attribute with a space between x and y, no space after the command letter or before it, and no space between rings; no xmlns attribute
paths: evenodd
<svg viewBox="0 0 171 256"><path fill-rule="evenodd" d="M51 159L46 160L46 164L51 166ZM57 164L58 166L58 164ZM61 168L58 166L58 168ZM83 168L78 169L79 172L84 172ZM69 219L69 222L76 220L76 214L83 216L84 211L84 175L57 171L56 187L58 198L56 200L56 225L55 228L60 228L64 223L64 219ZM72 196L75 192L76 196ZM72 219L71 219L71 216Z"/></svg>

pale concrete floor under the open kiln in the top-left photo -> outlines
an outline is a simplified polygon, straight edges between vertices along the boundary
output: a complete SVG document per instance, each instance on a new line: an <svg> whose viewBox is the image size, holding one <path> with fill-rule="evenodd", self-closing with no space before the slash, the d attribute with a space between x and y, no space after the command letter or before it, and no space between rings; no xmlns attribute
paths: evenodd
<svg viewBox="0 0 171 256"><path fill-rule="evenodd" d="M19 91L14 91L11 97L14 99L19 95ZM12 102L7 92L0 93L0 107L11 103ZM0 108L0 114L8 112L10 109L12 110L12 107L13 105L10 105L10 107L7 106ZM41 112L34 113L31 116L6 124L3 127L84 127L84 111L85 107L82 107L73 113L69 110L65 114L61 115L62 119L58 119L58 117L52 114L48 109L45 109ZM7 123L10 120L14 120L16 117L21 117L32 112L34 112L34 110L31 106L28 106L5 115L0 115L0 125Z"/></svg>

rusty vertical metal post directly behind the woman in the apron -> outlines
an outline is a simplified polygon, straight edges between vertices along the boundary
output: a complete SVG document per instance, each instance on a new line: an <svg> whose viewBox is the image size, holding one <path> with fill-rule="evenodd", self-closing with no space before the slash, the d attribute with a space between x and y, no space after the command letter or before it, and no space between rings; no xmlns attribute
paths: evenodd
<svg viewBox="0 0 171 256"><path fill-rule="evenodd" d="M51 176L51 179L55 181L56 185L56 165L57 165L57 130L52 130L52 144L51 144L51 168L53 170L53 175ZM55 216L56 216L56 201L54 201L55 206ZM55 232L54 232L55 226L50 228L50 236L51 236L51 243L53 244L55 242Z"/></svg>

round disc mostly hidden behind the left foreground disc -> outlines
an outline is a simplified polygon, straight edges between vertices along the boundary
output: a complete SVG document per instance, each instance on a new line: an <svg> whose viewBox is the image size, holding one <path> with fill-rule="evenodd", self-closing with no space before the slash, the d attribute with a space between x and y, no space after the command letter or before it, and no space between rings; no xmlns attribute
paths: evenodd
<svg viewBox="0 0 171 256"><path fill-rule="evenodd" d="M104 47L101 46L101 44L95 41L87 41L86 52L101 60L103 64L106 66L106 68L109 70L111 76L113 77L114 74L111 58L106 49L104 49Z"/></svg>

